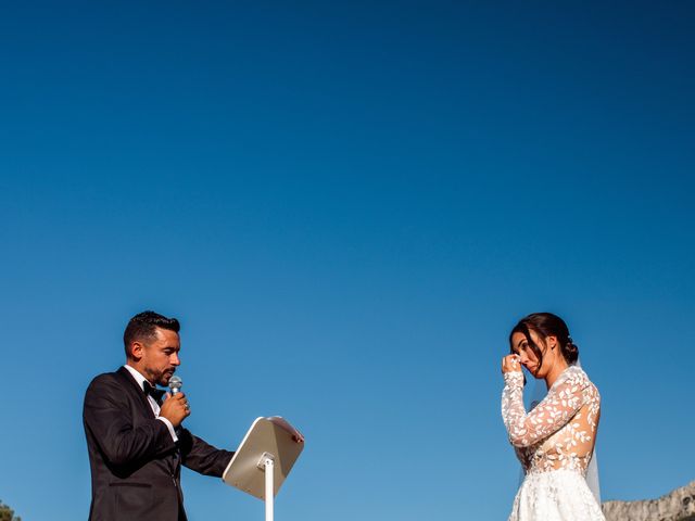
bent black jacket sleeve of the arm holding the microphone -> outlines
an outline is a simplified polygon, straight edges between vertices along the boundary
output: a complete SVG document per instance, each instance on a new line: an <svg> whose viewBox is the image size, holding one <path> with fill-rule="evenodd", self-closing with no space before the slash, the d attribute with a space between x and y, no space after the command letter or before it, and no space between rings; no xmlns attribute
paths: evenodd
<svg viewBox="0 0 695 521"><path fill-rule="evenodd" d="M176 447L164 422L141 419L134 424L128 397L108 377L97 377L87 389L84 421L111 465L157 458Z"/></svg>

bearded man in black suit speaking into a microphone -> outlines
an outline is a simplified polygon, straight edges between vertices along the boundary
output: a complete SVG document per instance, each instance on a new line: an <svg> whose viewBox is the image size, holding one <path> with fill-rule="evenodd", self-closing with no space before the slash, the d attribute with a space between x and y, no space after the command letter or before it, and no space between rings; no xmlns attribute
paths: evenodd
<svg viewBox="0 0 695 521"><path fill-rule="evenodd" d="M233 453L181 427L186 395L167 394L180 361L179 323L154 312L130 319L124 333L126 365L92 380L83 420L91 467L90 521L185 521L181 463L222 476Z"/></svg>

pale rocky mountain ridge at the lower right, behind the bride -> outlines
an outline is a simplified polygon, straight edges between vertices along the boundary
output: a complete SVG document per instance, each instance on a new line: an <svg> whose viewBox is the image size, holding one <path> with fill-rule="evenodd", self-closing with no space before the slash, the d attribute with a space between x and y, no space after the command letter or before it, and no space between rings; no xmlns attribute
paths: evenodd
<svg viewBox="0 0 695 521"><path fill-rule="evenodd" d="M695 521L695 481L659 497L642 501L605 501L607 521Z"/></svg>

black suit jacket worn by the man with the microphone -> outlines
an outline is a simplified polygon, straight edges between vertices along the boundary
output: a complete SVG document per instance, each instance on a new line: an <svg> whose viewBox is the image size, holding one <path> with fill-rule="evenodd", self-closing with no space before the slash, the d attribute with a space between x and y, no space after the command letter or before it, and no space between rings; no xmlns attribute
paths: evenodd
<svg viewBox="0 0 695 521"><path fill-rule="evenodd" d="M90 521L186 520L181 463L219 478L233 455L181 428L174 443L124 367L91 381L83 421L91 468Z"/></svg>

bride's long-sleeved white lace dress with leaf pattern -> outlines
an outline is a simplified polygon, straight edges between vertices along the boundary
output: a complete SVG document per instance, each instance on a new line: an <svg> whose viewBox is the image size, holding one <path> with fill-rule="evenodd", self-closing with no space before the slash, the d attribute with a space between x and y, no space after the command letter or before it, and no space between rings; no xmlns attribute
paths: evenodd
<svg viewBox="0 0 695 521"><path fill-rule="evenodd" d="M504 381L502 417L526 472L509 521L605 521L584 479L601 415L596 386L570 366L527 412L523 374L505 372Z"/></svg>

